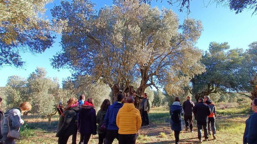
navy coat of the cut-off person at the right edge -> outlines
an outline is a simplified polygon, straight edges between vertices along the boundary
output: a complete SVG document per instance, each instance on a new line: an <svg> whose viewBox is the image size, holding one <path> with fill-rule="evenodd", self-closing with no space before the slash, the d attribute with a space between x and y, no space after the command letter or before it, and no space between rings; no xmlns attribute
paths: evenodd
<svg viewBox="0 0 257 144"><path fill-rule="evenodd" d="M257 144L257 113L253 113L245 121L245 130L243 136L243 143Z"/></svg>

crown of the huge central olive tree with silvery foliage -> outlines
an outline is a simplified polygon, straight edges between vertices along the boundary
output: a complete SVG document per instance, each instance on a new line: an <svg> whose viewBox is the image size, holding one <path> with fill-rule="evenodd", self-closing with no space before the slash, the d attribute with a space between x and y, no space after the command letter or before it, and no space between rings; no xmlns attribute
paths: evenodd
<svg viewBox="0 0 257 144"><path fill-rule="evenodd" d="M71 68L75 77L91 75L93 82L101 77L112 89L113 101L138 78L135 91L142 95L148 86L164 86L179 72L188 77L203 72L201 52L195 47L201 22L187 18L179 25L171 10L137 2L115 0L99 13L88 0L55 6L54 22L66 23L53 67Z"/></svg>

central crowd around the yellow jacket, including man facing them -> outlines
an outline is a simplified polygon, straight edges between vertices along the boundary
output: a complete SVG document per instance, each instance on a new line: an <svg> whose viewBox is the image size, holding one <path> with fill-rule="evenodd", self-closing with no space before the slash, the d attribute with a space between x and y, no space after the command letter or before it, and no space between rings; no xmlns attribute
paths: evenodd
<svg viewBox="0 0 257 144"><path fill-rule="evenodd" d="M140 111L134 106L136 96L142 99L143 123ZM97 114L93 99L85 100L85 95L81 95L79 100L70 98L63 109L58 106L58 144L66 144L70 136L72 144L76 144L77 131L80 133L79 144L87 144L91 135L97 134L97 131L98 144L112 144L115 138L119 144L136 143L136 134L140 127L149 126L149 99L147 93L143 97L133 93L126 100L124 98L124 95L119 94L112 105L109 99L105 99Z"/></svg>

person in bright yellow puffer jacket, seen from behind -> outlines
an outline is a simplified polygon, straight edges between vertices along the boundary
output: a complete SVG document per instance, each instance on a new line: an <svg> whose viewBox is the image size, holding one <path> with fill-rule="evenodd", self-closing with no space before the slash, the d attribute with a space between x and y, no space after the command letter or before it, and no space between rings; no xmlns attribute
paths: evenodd
<svg viewBox="0 0 257 144"><path fill-rule="evenodd" d="M119 144L136 143L136 133L141 127L142 120L134 102L134 97L127 97L126 103L117 114L116 124L119 127Z"/></svg>

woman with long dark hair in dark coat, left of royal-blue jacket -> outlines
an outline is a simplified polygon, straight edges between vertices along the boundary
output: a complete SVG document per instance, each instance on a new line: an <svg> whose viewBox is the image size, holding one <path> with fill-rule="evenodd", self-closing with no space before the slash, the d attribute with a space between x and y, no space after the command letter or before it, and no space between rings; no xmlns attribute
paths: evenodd
<svg viewBox="0 0 257 144"><path fill-rule="evenodd" d="M106 127L104 124L104 118L106 111L108 107L111 105L111 102L109 99L105 99L101 105L101 109L98 111L96 115L96 123L98 124L97 130L98 130L98 144L103 144L105 135L106 135Z"/></svg>

